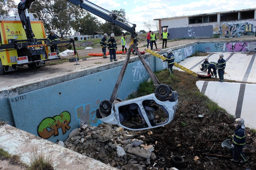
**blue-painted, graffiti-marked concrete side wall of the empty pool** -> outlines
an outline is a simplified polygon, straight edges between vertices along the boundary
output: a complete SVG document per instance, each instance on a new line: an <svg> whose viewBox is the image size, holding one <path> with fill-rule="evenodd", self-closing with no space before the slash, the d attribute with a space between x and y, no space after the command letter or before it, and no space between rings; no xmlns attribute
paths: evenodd
<svg viewBox="0 0 256 170"><path fill-rule="evenodd" d="M241 48L243 46L243 48ZM180 62L196 51L241 51L255 49L256 42L200 42L172 47L175 62ZM159 51L164 54L168 49ZM145 54L153 71L167 68L167 63ZM109 100L123 62L105 63L87 71L55 77L47 82L10 87L0 92L0 120L31 134L56 142L66 140L68 134L82 123L101 123L96 108L102 100ZM131 57L118 97L125 100L147 80L138 57Z"/></svg>

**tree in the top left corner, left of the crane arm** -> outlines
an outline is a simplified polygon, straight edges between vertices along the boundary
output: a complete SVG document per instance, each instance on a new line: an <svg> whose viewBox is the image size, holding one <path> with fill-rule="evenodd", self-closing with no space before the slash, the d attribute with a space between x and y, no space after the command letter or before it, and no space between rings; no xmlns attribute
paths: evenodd
<svg viewBox="0 0 256 170"><path fill-rule="evenodd" d="M8 16L13 14L17 14L17 5L13 0L0 0L0 15Z"/></svg>

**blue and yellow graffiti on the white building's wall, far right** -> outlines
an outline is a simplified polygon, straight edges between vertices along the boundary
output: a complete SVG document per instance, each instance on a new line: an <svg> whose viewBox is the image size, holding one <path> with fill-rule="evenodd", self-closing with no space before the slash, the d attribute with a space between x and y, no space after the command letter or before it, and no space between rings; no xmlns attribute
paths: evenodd
<svg viewBox="0 0 256 170"><path fill-rule="evenodd" d="M220 24L220 37L240 37L255 33L255 26L251 23L222 23Z"/></svg>

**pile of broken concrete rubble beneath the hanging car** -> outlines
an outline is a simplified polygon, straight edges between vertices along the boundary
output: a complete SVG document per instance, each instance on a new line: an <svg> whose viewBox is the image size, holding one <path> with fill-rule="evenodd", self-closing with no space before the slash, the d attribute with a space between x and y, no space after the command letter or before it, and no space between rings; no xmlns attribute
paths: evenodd
<svg viewBox="0 0 256 170"><path fill-rule="evenodd" d="M65 142L57 143L118 169L152 169L154 167L150 163L157 162L153 152L157 141L146 139L140 133L103 123L98 126L82 125L74 129ZM151 134L149 131L148 135Z"/></svg>

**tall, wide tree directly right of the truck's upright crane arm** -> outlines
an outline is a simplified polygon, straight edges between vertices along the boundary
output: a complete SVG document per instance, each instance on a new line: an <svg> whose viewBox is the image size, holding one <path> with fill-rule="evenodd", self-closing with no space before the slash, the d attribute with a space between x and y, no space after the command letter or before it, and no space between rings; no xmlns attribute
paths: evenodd
<svg viewBox="0 0 256 170"><path fill-rule="evenodd" d="M71 35L71 28L79 29L79 20L86 11L67 1L45 0L34 1L29 12L37 13L45 29L57 30L63 39L64 35Z"/></svg>

